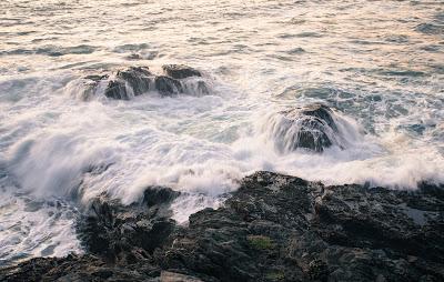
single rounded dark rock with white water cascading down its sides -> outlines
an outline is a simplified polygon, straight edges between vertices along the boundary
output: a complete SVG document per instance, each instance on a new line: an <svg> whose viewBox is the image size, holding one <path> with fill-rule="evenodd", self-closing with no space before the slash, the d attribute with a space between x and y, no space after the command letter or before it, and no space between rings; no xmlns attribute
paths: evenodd
<svg viewBox="0 0 444 282"><path fill-rule="evenodd" d="M339 133L333 111L323 104L295 108L280 114L283 121L276 134L284 140L285 150L304 148L322 152L334 143L334 134Z"/></svg>

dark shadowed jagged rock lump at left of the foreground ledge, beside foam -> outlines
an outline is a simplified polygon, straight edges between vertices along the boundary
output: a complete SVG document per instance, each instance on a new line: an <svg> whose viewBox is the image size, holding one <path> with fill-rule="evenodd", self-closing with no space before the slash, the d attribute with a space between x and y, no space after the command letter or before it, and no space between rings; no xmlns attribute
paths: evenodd
<svg viewBox="0 0 444 282"><path fill-rule="evenodd" d="M143 201L122 205L100 198L79 224L79 233L89 252L109 261L125 263L148 259L169 240L175 228L169 204L179 195L169 188L145 190Z"/></svg>

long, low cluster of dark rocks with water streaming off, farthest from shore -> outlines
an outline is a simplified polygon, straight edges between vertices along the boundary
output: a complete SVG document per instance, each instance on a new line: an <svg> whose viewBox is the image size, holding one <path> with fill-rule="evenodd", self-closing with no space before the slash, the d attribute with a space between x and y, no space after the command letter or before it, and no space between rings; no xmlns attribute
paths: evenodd
<svg viewBox="0 0 444 282"><path fill-rule="evenodd" d="M115 100L130 100L132 97L155 91L161 97L178 94L209 94L210 88L202 73L183 64L162 67L163 74L155 74L148 67L129 67L115 74L88 75L84 78L90 92L104 88L105 97Z"/></svg>

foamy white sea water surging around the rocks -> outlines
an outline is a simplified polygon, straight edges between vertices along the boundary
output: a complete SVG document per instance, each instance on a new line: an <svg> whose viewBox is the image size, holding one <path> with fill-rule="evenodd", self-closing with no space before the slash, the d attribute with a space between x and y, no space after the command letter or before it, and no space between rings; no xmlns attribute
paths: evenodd
<svg viewBox="0 0 444 282"><path fill-rule="evenodd" d="M80 252L78 210L103 191L188 192L182 222L255 170L444 182L443 52L440 0L1 1L0 265ZM212 93L81 99L85 74L163 63L204 71ZM312 102L352 124L351 145L276 151L271 114Z"/></svg>

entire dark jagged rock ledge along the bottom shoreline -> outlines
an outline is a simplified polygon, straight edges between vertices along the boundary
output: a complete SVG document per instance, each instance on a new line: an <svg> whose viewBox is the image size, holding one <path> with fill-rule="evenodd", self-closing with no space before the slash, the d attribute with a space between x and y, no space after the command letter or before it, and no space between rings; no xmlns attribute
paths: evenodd
<svg viewBox="0 0 444 282"><path fill-rule="evenodd" d="M324 187L256 172L189 226L167 216L175 197L153 188L132 207L97 201L79 228L88 254L33 259L0 280L444 281L442 187ZM91 245L91 232L113 248Z"/></svg>

